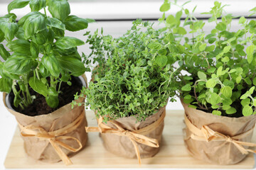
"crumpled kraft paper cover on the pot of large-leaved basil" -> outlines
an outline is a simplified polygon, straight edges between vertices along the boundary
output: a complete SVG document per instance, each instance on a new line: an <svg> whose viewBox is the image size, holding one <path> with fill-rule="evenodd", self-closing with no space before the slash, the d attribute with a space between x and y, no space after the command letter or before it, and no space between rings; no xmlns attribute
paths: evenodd
<svg viewBox="0 0 256 170"><path fill-rule="evenodd" d="M82 77L80 77L80 80L82 81L83 86L87 86L87 78L85 77L85 75L82 75ZM87 120L85 118L84 106L75 106L72 109L71 104L68 103L62 108L59 108L57 111L54 111L53 113L48 113L47 115L28 116L14 111L14 109L12 109L10 104L8 103L8 96L6 96L7 95L4 93L4 106L6 106L7 110L16 117L20 130L21 127L32 127L33 129L31 133L33 134L34 132L39 131L38 128L43 128L43 130L50 133L56 130L61 131L63 128L68 128L68 126L72 125L73 127L69 128L68 133L61 132L61 137L54 137L53 140L63 142L63 145L67 145L67 147L73 149L85 147L87 143L87 133L85 132ZM77 102L82 101L84 101L84 98L78 98ZM74 121L78 119L80 119L80 121L75 125ZM29 132L29 130L26 131ZM24 133L26 134L26 132ZM43 139L43 137L23 137L22 135L21 137L24 141L25 152L33 159L50 163L60 162L62 160L60 155L56 152L56 149L51 144L50 140L47 139L47 137L46 139ZM73 154L77 153L71 151L70 149L65 149L61 145L58 145L58 147L61 150L60 152L63 152L63 157L70 157ZM67 160L67 162L70 162L70 160ZM65 162L65 164L70 163Z"/></svg>

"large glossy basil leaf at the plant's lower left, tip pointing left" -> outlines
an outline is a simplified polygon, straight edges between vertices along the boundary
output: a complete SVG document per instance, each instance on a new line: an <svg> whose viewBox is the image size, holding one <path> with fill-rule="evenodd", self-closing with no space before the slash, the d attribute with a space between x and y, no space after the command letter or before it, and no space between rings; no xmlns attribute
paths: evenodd
<svg viewBox="0 0 256 170"><path fill-rule="evenodd" d="M17 52L4 62L4 69L13 74L25 74L36 67L37 62L31 56Z"/></svg>

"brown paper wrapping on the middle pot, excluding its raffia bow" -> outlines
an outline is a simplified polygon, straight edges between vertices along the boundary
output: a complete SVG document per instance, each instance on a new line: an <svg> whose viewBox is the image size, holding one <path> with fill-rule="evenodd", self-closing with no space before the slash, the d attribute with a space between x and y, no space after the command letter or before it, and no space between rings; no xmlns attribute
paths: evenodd
<svg viewBox="0 0 256 170"><path fill-rule="evenodd" d="M150 125L151 123L154 123L156 120L158 120L162 113L165 111L165 107L161 108L158 113L155 113L154 115L149 116L146 118L146 120L142 122L137 122L136 118L133 116L130 116L128 118L119 118L115 121L119 123L119 125L124 128L124 130L134 131L139 130L147 125ZM110 123L107 123L108 126L111 128L114 128L113 125ZM161 143L161 135L164 130L164 121L161 123L155 130L149 132L148 135L145 135L146 137L151 137L153 139L158 140L159 145ZM120 157L127 157L127 158L137 158L137 154L134 150L134 145L132 144L131 140L129 140L128 137L124 136L118 136L114 134L101 134L103 145L107 151L112 152L113 154L116 154ZM149 147L146 145L142 145L137 143L139 147L139 154L142 158L147 157L154 157L157 152L159 152L159 147Z"/></svg>

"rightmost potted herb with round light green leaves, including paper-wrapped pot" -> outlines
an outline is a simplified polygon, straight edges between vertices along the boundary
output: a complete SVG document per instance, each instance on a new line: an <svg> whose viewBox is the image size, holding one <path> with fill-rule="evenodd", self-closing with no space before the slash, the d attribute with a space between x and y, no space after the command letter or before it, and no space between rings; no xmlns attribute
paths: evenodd
<svg viewBox="0 0 256 170"><path fill-rule="evenodd" d="M185 4L176 15L165 16L177 1L164 1L159 21L174 41L171 53L178 53L178 94L185 109L184 142L188 152L212 164L236 164L249 152L255 127L256 108L256 21L226 14L220 2L198 20L196 8ZM252 15L256 8L252 8ZM181 25L181 16L186 19ZM204 28L215 23L211 30ZM238 22L240 29L234 30ZM189 30L189 33L186 32ZM186 74L181 74L185 71Z"/></svg>

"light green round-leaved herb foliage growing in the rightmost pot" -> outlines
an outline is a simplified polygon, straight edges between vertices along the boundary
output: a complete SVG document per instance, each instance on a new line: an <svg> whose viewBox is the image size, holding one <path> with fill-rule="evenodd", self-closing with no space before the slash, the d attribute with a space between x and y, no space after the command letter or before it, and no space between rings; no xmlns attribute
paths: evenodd
<svg viewBox="0 0 256 170"><path fill-rule="evenodd" d="M186 4L179 6L177 1L165 0L160 8L163 16L159 18L173 38L169 52L182 56L177 81L183 102L214 115L255 114L256 21L225 13L225 5L215 1L204 13L210 16L208 23L215 26L205 30L206 23L193 15L196 7L189 11ZM179 6L181 11L166 16L171 6ZM250 11L254 15L256 8ZM183 14L186 18L181 21ZM232 28L234 22L239 23L240 29Z"/></svg>

